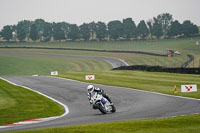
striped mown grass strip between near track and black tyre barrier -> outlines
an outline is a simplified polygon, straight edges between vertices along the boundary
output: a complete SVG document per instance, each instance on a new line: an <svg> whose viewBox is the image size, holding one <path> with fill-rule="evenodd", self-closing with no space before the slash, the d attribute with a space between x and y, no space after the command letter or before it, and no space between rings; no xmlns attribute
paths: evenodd
<svg viewBox="0 0 200 133"><path fill-rule="evenodd" d="M146 91L186 96L200 99L200 88L195 93L181 93L181 85L197 84L200 86L200 75L173 74L143 71L99 71L99 72L66 72L64 78L85 81L85 75L94 74L96 79L90 83L135 88ZM174 85L178 92L174 94Z"/></svg>

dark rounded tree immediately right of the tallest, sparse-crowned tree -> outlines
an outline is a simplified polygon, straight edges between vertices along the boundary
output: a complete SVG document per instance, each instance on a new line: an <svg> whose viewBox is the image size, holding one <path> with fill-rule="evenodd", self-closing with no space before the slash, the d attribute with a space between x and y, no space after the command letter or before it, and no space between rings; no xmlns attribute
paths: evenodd
<svg viewBox="0 0 200 133"><path fill-rule="evenodd" d="M178 35L181 35L181 34L182 34L182 26L181 26L181 24L178 22L178 20L175 20L175 21L172 23L172 25L171 25L171 27L170 27L170 29L169 29L167 35L168 35L169 37L174 37L174 36L178 36Z"/></svg>

